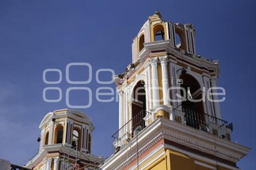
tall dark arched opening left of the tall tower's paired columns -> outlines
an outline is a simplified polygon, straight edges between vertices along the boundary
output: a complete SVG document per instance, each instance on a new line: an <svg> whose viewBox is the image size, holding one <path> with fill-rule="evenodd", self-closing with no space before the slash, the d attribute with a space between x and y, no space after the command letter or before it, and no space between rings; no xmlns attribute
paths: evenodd
<svg viewBox="0 0 256 170"><path fill-rule="evenodd" d="M136 133L145 127L146 116L146 93L145 93L145 82L139 81L133 88L132 94L132 132Z"/></svg>

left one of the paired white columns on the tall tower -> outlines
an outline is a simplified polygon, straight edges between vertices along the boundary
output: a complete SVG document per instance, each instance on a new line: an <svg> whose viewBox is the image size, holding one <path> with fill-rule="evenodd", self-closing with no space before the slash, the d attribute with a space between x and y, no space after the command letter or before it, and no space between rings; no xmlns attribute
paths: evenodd
<svg viewBox="0 0 256 170"><path fill-rule="evenodd" d="M159 105L159 85L158 85L157 61L158 61L157 57L150 58L151 75L152 75L153 107Z"/></svg>

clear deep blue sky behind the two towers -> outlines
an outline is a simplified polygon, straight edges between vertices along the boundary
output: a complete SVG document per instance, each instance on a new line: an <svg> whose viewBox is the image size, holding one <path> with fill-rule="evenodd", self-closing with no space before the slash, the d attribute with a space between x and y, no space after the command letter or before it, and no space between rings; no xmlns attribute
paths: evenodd
<svg viewBox="0 0 256 170"><path fill-rule="evenodd" d="M0 158L23 165L38 148L39 123L49 111L67 108L61 102L47 103L42 79L47 68L63 73L60 87L92 89L92 106L82 109L96 127L92 152L111 154L111 135L118 128L118 103L100 103L95 80L100 68L124 71L131 62L131 43L147 17L160 10L164 20L193 23L198 55L220 60L219 86L226 89L221 103L223 119L233 122L232 140L251 147L238 166L255 165L255 1L33 1L0 2ZM71 85L65 80L70 62L92 65L92 82ZM72 80L86 80L85 67L70 69ZM100 75L110 80L110 73ZM58 74L47 74L58 80ZM54 86L54 85L50 85ZM106 85L115 87L114 83ZM57 93L47 93L51 99ZM85 104L86 93L70 94L71 104Z"/></svg>

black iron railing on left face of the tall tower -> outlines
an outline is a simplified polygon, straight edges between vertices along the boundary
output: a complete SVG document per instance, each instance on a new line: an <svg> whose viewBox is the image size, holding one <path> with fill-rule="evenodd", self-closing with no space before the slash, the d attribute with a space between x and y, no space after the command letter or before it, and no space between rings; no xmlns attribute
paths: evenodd
<svg viewBox="0 0 256 170"><path fill-rule="evenodd" d="M136 136L149 124L151 113L145 110L140 111L132 119L126 122L120 129L112 135L112 151L116 153L120 148Z"/></svg>

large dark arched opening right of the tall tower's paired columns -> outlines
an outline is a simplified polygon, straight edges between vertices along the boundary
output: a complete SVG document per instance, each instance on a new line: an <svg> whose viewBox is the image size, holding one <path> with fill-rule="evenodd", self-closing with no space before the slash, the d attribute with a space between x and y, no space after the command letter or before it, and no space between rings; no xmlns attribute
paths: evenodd
<svg viewBox="0 0 256 170"><path fill-rule="evenodd" d="M181 90L181 96L186 96L186 101L182 102L186 125L199 129L203 126L202 123L204 122L204 104L201 86L190 74L182 74L180 79L183 80L181 87L186 92L185 95L183 90Z"/></svg>

